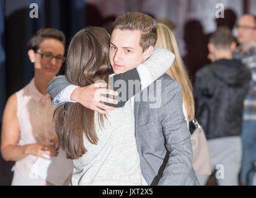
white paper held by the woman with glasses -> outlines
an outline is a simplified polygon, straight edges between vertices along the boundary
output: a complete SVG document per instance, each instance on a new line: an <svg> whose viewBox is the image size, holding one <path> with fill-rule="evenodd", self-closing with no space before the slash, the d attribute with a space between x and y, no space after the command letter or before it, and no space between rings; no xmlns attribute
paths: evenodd
<svg viewBox="0 0 256 198"><path fill-rule="evenodd" d="M45 155L47 158L50 157L51 160L38 157L30 170L51 184L61 186L72 173L74 165L73 160L66 158L63 149L59 149L58 152L56 157Z"/></svg>

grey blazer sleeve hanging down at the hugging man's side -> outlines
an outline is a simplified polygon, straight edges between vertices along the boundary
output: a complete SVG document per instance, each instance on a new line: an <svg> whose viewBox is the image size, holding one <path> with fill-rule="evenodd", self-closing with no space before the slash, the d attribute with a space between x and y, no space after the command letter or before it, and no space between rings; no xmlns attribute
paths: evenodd
<svg viewBox="0 0 256 198"><path fill-rule="evenodd" d="M161 93L159 119L166 138L169 159L158 185L198 185L193 170L193 150L182 111L182 87L173 80Z"/></svg>

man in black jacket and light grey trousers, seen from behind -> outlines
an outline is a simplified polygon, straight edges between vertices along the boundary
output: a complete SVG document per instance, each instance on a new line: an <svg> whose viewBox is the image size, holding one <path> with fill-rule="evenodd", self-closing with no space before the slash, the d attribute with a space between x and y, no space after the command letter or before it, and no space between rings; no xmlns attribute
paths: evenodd
<svg viewBox="0 0 256 198"><path fill-rule="evenodd" d="M195 111L210 150L211 169L219 185L237 185L242 158L243 102L251 74L240 60L232 59L234 37L219 27L208 43L212 63L196 72ZM198 177L204 185L208 176Z"/></svg>

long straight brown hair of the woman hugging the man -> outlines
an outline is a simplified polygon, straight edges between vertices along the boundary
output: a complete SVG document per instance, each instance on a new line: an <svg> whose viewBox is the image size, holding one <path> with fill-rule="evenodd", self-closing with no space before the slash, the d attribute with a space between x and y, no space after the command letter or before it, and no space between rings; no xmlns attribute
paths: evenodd
<svg viewBox="0 0 256 198"><path fill-rule="evenodd" d="M66 61L66 77L71 84L85 87L97 80L108 83L108 75L113 73L108 61L109 43L110 35L100 27L87 27L74 35ZM103 126L104 116L99 114L98 118ZM84 135L90 143L97 144L94 111L79 103L69 103L58 106L53 119L67 158L77 159L87 152Z"/></svg>

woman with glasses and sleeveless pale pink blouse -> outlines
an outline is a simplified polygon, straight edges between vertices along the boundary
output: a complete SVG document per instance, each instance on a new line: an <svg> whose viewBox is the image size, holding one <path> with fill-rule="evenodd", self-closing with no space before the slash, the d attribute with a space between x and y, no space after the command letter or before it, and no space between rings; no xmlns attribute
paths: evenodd
<svg viewBox="0 0 256 198"><path fill-rule="evenodd" d="M16 161L12 168L12 185L51 185L33 175L30 168L38 157L50 159L58 154L58 137L52 121L55 106L51 105L46 87L64 62L65 42L65 35L59 30L38 30L28 45L35 75L6 103L1 153L4 160Z"/></svg>

